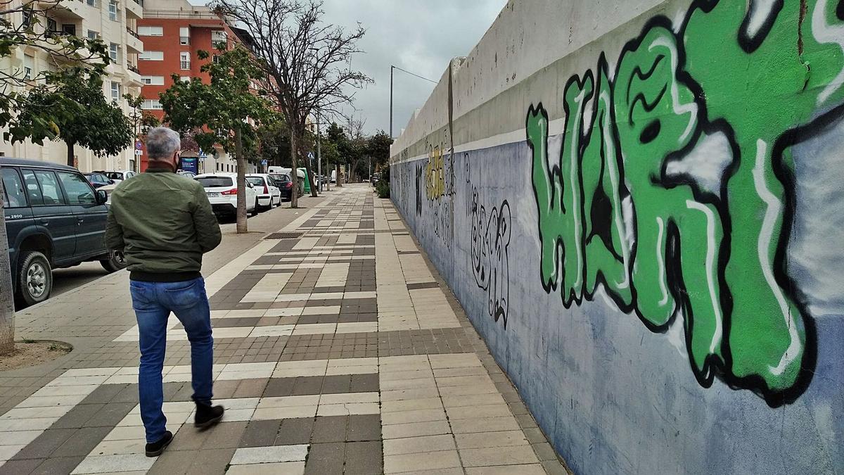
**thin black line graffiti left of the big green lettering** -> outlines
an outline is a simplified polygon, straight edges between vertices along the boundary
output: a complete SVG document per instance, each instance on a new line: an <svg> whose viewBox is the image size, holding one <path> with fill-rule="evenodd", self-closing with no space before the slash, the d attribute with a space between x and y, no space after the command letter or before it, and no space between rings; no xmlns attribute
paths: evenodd
<svg viewBox="0 0 844 475"><path fill-rule="evenodd" d="M478 287L487 292L487 311L497 322L507 327L510 302L510 204L507 200L487 210L479 198L478 187L472 183L468 154L463 156L466 167L466 216L472 221L472 274Z"/></svg>

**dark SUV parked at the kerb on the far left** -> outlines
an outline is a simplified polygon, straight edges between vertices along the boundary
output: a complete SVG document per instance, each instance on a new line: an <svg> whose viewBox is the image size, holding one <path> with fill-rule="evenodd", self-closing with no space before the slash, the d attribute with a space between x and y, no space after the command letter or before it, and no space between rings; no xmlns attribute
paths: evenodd
<svg viewBox="0 0 844 475"><path fill-rule="evenodd" d="M109 272L126 267L106 248L106 193L73 167L0 158L8 257L20 303L50 297L52 269L99 260Z"/></svg>

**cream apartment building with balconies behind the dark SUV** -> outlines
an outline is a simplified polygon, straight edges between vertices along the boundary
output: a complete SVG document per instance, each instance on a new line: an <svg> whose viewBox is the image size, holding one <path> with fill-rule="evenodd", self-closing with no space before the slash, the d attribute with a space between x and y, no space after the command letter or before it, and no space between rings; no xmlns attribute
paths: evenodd
<svg viewBox="0 0 844 475"><path fill-rule="evenodd" d="M141 91L141 75L138 72L138 54L143 52L143 43L137 35L138 20L143 18L140 0L78 0L50 8L46 13L46 25L39 25L61 35L99 37L109 47L112 63L106 68L103 94L106 99L116 101L127 116L131 115L124 94L138 95ZM35 3L37 5L37 3ZM23 21L23 14L16 14L14 22ZM16 48L9 57L0 59L0 68L8 71L24 71L37 76L42 71L57 68L61 58L32 47ZM31 142L9 144L0 142L0 155L29 158L57 163L67 162L67 146L63 142L45 142L36 145ZM129 147L116 156L98 157L90 150L77 146L76 167L83 172L94 170L133 170L136 167L134 147Z"/></svg>

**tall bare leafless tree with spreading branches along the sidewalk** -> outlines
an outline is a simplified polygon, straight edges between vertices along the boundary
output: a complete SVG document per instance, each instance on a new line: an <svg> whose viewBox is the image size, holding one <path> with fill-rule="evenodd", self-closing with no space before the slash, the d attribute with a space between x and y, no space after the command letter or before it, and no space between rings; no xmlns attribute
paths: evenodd
<svg viewBox="0 0 844 475"><path fill-rule="evenodd" d="M268 90L274 96L290 129L290 159L295 169L306 150L301 150L307 120L319 109L323 117L342 115L342 107L354 99L351 89L360 89L372 79L351 68L351 57L361 52L357 41L365 34L360 24L346 31L322 23L322 2L308 0L216 0L218 14L234 19L254 39L252 49L262 59L268 75ZM308 177L311 167L305 159ZM317 196L317 188L311 187ZM297 206L296 194L291 195Z"/></svg>

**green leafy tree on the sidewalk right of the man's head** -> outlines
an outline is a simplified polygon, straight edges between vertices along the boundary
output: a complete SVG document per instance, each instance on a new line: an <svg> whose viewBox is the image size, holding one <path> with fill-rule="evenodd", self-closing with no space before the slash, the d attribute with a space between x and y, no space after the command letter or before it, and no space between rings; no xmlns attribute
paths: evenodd
<svg viewBox="0 0 844 475"><path fill-rule="evenodd" d="M209 52L200 51L199 59L208 60ZM202 150L214 150L219 144L237 160L237 232L247 232L246 156L257 149L256 127L271 117L270 104L254 90L263 79L251 53L242 46L229 51L217 50L214 61L203 64L210 84L200 78L183 82L173 75L173 85L161 93L165 123L182 134L192 134Z"/></svg>

